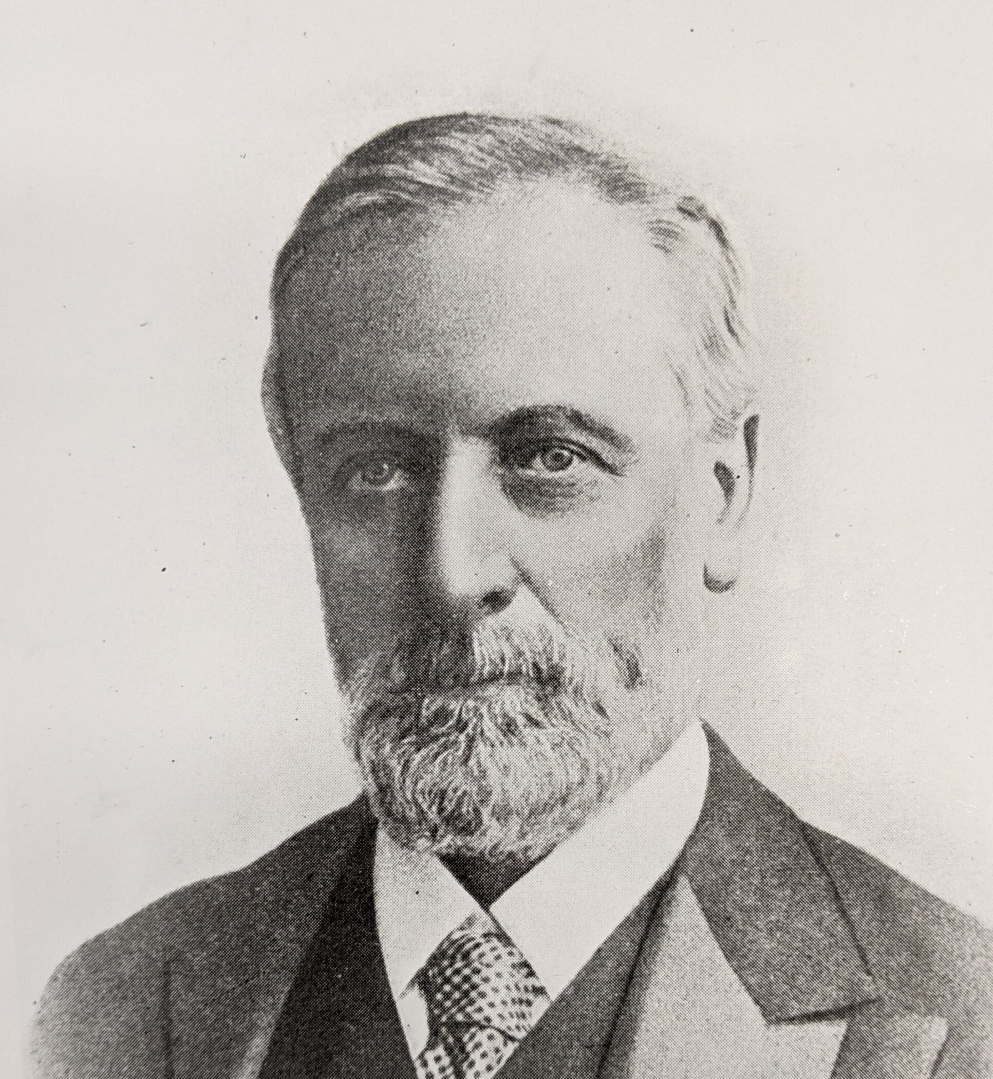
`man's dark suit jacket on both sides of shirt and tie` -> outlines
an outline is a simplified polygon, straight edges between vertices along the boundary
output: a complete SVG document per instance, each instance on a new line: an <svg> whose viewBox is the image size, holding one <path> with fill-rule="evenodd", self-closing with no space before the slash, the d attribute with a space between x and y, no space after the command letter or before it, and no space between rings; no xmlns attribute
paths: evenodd
<svg viewBox="0 0 993 1079"><path fill-rule="evenodd" d="M993 1076L993 938L800 820L708 732L700 820L502 1077ZM412 1076L364 800L53 974L43 1079ZM568 931L568 927L563 927Z"/></svg>

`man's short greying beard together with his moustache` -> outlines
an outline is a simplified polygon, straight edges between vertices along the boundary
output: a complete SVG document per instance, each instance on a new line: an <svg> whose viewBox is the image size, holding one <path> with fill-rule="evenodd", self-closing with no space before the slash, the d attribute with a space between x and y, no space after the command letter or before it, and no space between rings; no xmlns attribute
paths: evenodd
<svg viewBox="0 0 993 1079"><path fill-rule="evenodd" d="M400 641L345 686L350 742L380 823L439 856L533 863L609 800L604 700L631 653L547 627Z"/></svg>

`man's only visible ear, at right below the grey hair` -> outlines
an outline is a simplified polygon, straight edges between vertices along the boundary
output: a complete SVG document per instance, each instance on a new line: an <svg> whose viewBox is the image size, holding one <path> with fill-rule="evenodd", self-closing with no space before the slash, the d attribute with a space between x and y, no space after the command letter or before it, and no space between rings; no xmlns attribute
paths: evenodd
<svg viewBox="0 0 993 1079"><path fill-rule="evenodd" d="M754 492L759 446L759 418L750 415L733 438L711 453L712 482L719 489L718 510L709 522L704 562L704 584L711 592L734 587L742 564L742 538Z"/></svg>

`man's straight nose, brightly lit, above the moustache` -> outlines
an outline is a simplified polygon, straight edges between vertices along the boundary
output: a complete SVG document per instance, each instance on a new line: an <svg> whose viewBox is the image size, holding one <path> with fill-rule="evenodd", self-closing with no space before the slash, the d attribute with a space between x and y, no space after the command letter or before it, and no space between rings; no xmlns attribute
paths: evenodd
<svg viewBox="0 0 993 1079"><path fill-rule="evenodd" d="M504 510L488 446L460 440L445 460L431 522L427 577L446 620L473 623L499 614L514 599L519 571Z"/></svg>

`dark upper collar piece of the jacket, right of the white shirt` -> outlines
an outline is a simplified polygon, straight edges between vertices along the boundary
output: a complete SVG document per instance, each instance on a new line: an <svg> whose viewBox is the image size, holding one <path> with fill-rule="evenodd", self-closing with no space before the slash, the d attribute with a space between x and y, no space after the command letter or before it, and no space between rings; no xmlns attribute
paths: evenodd
<svg viewBox="0 0 993 1079"><path fill-rule="evenodd" d="M681 870L727 962L766 1022L876 999L875 979L803 824L706 733L710 780Z"/></svg>

